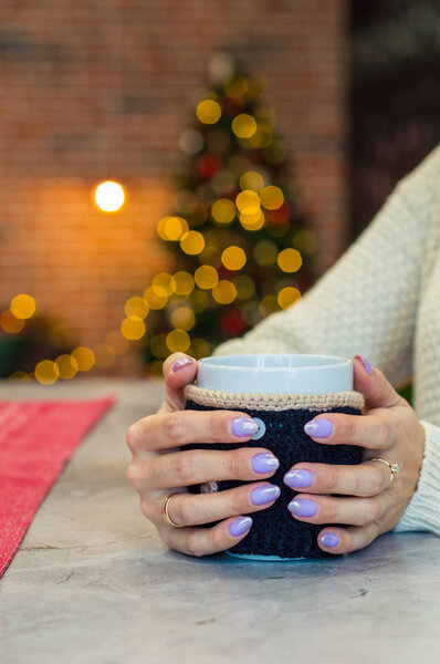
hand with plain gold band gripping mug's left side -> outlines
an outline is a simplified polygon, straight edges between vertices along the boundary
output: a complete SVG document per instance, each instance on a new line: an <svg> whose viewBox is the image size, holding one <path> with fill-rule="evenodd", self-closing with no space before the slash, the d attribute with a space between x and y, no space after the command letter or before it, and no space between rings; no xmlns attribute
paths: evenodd
<svg viewBox="0 0 440 664"><path fill-rule="evenodd" d="M165 403L127 432L133 454L127 478L140 496L142 511L166 544L190 556L206 556L229 549L245 537L252 519L243 515L273 505L280 488L264 480L275 473L279 460L263 447L185 449L191 443L243 443L256 432L256 424L245 413L184 411L184 387L196 374L197 362L184 353L165 361ZM187 489L226 479L251 484L213 494L195 495ZM170 494L178 495L168 504L169 516L181 528L168 526L161 517L163 500ZM198 528L212 521L220 522Z"/></svg>

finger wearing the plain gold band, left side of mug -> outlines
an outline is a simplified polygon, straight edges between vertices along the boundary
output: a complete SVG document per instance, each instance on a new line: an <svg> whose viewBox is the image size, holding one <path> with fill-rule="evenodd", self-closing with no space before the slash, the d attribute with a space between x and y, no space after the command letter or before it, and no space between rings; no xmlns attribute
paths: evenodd
<svg viewBox="0 0 440 664"><path fill-rule="evenodd" d="M280 497L280 488L266 484L251 484L214 494L176 494L168 502L168 515L178 526L211 523L229 517L266 509ZM161 501L154 508L161 519Z"/></svg>

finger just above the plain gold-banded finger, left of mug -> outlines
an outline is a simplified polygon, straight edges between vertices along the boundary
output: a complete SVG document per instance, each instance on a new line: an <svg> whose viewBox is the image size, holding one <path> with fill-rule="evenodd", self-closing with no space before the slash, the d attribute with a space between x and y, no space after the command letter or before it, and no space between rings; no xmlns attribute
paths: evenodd
<svg viewBox="0 0 440 664"><path fill-rule="evenodd" d="M142 465L139 461L138 466ZM240 447L228 452L187 449L163 454L147 460L145 466L144 486L166 489L224 479L254 481L273 475L279 461L266 449Z"/></svg>

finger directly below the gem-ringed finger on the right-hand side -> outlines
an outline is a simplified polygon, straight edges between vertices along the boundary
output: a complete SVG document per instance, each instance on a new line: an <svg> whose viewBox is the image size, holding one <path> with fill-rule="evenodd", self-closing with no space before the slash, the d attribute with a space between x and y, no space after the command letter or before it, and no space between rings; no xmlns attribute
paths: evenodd
<svg viewBox="0 0 440 664"><path fill-rule="evenodd" d="M373 498L334 498L298 494L287 505L292 517L307 523L366 526L377 521L389 504L385 494Z"/></svg>

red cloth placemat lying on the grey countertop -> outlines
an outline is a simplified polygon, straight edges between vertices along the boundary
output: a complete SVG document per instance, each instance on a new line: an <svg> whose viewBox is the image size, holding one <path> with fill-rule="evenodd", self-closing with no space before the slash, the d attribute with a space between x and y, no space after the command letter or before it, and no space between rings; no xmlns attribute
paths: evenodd
<svg viewBox="0 0 440 664"><path fill-rule="evenodd" d="M114 401L0 402L0 579L63 466Z"/></svg>

